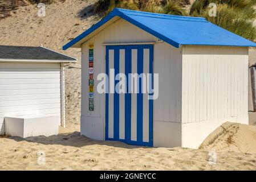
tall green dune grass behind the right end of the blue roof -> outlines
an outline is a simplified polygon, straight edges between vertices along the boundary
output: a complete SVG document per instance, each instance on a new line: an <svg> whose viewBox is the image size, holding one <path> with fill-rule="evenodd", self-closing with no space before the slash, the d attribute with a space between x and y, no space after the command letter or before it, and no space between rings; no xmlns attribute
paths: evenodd
<svg viewBox="0 0 256 182"><path fill-rule="evenodd" d="M217 16L210 16L210 3L216 3ZM249 40L256 39L254 20L255 0L196 0L190 9L190 16L203 16L210 22Z"/></svg>

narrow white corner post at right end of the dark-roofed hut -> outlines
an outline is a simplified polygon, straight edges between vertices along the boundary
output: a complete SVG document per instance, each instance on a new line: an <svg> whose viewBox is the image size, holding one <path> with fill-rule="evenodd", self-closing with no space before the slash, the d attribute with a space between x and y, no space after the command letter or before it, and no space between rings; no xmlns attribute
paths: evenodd
<svg viewBox="0 0 256 182"><path fill-rule="evenodd" d="M60 63L60 108L60 125L65 127L65 74L63 63Z"/></svg>

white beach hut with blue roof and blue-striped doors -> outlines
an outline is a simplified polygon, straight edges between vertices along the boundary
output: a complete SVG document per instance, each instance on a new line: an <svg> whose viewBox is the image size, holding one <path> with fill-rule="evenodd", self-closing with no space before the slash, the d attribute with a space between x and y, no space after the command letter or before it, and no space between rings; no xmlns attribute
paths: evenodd
<svg viewBox="0 0 256 182"><path fill-rule="evenodd" d="M63 46L82 48L81 134L196 148L226 121L247 124L248 49L255 46L205 18L114 9ZM98 89L107 82L97 79L102 73L108 93ZM111 92L119 73L125 93ZM130 92L130 73L152 73L153 93Z"/></svg>

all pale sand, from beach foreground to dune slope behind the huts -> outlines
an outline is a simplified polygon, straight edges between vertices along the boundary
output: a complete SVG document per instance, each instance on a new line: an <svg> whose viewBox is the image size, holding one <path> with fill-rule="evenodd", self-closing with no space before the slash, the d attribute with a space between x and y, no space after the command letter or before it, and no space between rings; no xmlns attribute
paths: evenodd
<svg viewBox="0 0 256 182"><path fill-rule="evenodd" d="M227 132L217 129L200 150L131 146L80 136L80 49L62 51L62 46L97 22L99 18L89 13L94 2L48 5L44 18L36 16L36 5L30 5L0 20L0 44L43 44L78 58L78 63L66 65L67 127L51 137L0 137L0 170L255 170L253 126L227 123ZM217 163L211 164L209 154L214 152Z"/></svg>

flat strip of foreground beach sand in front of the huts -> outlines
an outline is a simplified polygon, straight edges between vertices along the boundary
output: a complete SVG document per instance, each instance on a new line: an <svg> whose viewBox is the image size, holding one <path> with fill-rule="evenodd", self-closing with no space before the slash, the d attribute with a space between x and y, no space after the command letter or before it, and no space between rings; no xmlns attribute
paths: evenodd
<svg viewBox="0 0 256 182"><path fill-rule="evenodd" d="M2 170L255 170L256 154L190 148L148 148L97 142L79 132L52 137L0 138ZM45 164L38 152L45 154Z"/></svg>

